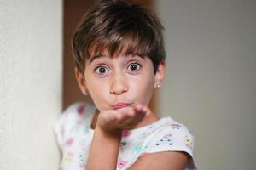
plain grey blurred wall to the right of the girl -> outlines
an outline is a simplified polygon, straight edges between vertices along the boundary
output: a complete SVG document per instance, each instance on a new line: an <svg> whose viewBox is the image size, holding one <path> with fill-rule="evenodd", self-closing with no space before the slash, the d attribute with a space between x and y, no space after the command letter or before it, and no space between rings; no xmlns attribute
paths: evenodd
<svg viewBox="0 0 256 170"><path fill-rule="evenodd" d="M199 169L255 169L256 1L155 2L169 66L161 112L195 135Z"/></svg>

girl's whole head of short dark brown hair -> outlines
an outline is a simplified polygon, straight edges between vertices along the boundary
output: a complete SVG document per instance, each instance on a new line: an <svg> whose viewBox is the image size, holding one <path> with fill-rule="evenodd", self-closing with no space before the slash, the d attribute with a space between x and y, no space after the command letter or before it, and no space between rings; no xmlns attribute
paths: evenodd
<svg viewBox="0 0 256 170"><path fill-rule="evenodd" d="M108 51L149 57L154 73L166 52L157 15L148 8L123 0L100 0L84 15L73 35L73 57L81 73L86 59Z"/></svg>

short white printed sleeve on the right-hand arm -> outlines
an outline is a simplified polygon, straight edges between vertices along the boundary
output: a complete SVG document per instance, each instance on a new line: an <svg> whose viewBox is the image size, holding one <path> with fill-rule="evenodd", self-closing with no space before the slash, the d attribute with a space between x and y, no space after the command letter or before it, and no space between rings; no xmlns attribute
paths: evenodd
<svg viewBox="0 0 256 170"><path fill-rule="evenodd" d="M173 122L163 128L146 146L143 155L162 151L183 151L189 154L187 169L196 169L194 159L194 136L183 124Z"/></svg>

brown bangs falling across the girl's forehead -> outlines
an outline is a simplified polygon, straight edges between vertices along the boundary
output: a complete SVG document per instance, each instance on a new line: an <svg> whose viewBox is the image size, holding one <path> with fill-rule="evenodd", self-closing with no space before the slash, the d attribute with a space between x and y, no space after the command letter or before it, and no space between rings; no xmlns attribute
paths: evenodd
<svg viewBox="0 0 256 170"><path fill-rule="evenodd" d="M149 39L151 38L149 37ZM106 52L108 52L108 57L111 58L119 54L137 54L144 58L150 56L149 47L152 47L152 45L152 42L148 41L147 38L143 38L143 36L139 36L137 33L122 35L116 32L108 37L97 37L85 53L88 57L87 59Z"/></svg>

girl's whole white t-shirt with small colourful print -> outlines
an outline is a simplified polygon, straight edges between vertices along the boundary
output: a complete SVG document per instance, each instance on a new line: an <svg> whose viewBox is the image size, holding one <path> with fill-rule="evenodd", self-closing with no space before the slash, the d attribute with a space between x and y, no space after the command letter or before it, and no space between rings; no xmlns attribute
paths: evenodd
<svg viewBox="0 0 256 170"><path fill-rule="evenodd" d="M78 102L70 105L55 123L55 135L61 148L61 169L85 168L94 130L90 128L96 112L94 105ZM184 151L190 155L187 169L196 169L193 161L194 137L171 117L147 126L125 130L119 146L117 170L131 167L140 156L161 151Z"/></svg>

